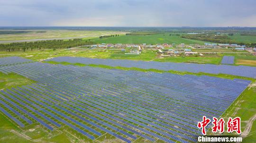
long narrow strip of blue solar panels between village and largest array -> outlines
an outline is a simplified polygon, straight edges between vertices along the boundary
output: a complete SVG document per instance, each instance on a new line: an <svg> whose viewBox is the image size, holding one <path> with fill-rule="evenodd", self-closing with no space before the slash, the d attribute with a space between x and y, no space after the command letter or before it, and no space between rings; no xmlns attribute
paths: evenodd
<svg viewBox="0 0 256 143"><path fill-rule="evenodd" d="M194 64L194 63L172 63L172 62L156 62L156 61L134 61L126 59L90 59L80 57L57 57L47 59L46 61L82 63L108 65L111 67L138 67L143 69L160 69L160 70L176 70L192 73L210 73L210 74L228 74L235 76L245 76L256 78L256 67L249 66L230 66L230 65L213 65L213 64Z"/></svg>

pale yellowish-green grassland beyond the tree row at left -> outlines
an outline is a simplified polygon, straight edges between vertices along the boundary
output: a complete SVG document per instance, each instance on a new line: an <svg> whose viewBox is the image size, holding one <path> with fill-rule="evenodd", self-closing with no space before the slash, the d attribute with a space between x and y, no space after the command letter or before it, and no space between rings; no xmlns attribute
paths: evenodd
<svg viewBox="0 0 256 143"><path fill-rule="evenodd" d="M96 38L108 34L126 34L119 31L93 31L93 30L28 30L22 34L0 34L0 41L16 41L31 39L54 39L67 37ZM43 32L42 32L43 31ZM26 32L26 31L25 31Z"/></svg>

